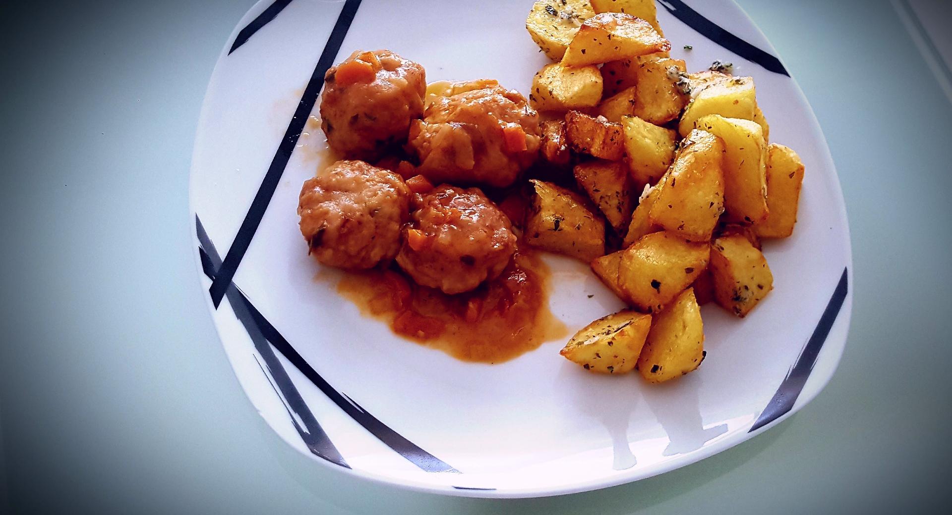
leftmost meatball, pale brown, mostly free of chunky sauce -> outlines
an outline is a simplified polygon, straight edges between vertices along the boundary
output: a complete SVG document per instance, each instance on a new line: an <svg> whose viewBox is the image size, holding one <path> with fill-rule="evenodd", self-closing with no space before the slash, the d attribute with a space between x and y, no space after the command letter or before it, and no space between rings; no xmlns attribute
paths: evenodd
<svg viewBox="0 0 952 515"><path fill-rule="evenodd" d="M411 193L397 174L363 161L338 161L301 188L301 234L318 261L371 268L400 250Z"/></svg>

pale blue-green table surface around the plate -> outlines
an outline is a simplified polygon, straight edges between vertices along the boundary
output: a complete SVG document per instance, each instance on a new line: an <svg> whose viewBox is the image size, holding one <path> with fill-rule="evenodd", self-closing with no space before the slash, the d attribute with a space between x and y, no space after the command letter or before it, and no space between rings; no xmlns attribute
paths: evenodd
<svg viewBox="0 0 952 515"><path fill-rule="evenodd" d="M803 86L843 184L856 297L839 371L777 428L698 464L486 501L315 466L228 366L196 278L188 168L211 69L252 2L4 2L0 512L947 506L952 105L889 2L740 3Z"/></svg>

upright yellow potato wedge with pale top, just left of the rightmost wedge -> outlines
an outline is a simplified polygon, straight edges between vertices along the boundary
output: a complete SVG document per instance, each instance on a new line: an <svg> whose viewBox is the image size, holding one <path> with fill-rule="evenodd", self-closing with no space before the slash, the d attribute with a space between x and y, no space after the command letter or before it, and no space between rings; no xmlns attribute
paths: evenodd
<svg viewBox="0 0 952 515"><path fill-rule="evenodd" d="M724 208L738 223L761 223L767 218L767 145L764 129L749 120L712 114L696 122L698 128L724 140Z"/></svg>

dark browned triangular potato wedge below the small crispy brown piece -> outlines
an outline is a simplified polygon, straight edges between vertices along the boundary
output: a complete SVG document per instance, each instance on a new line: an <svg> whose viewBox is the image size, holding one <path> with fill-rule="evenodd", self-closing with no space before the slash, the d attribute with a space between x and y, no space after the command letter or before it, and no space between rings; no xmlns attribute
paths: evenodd
<svg viewBox="0 0 952 515"><path fill-rule="evenodd" d="M624 162L592 160L580 162L573 170L575 181L598 206L605 219L623 235L635 210L631 178Z"/></svg>

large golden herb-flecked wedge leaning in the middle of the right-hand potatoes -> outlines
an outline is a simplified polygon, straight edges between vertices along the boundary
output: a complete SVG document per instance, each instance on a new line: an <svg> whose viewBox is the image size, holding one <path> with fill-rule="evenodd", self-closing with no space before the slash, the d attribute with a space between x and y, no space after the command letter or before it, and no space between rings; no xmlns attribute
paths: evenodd
<svg viewBox="0 0 952 515"><path fill-rule="evenodd" d="M648 212L648 224L681 238L707 241L724 213L724 142L692 130L664 176L664 188Z"/></svg>

